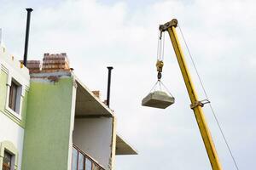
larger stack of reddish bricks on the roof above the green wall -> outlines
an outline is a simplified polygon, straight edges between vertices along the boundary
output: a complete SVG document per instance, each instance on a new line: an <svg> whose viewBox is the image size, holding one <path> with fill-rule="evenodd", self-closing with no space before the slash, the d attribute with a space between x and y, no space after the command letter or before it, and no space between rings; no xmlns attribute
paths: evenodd
<svg viewBox="0 0 256 170"><path fill-rule="evenodd" d="M70 71L66 53L44 54L43 72Z"/></svg>

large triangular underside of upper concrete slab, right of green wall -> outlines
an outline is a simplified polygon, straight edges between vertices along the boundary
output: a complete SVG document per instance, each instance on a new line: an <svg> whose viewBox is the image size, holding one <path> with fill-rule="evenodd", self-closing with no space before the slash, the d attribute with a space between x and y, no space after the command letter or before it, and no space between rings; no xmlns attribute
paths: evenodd
<svg viewBox="0 0 256 170"><path fill-rule="evenodd" d="M77 95L76 95L76 117L97 117L97 116L113 116L107 105L96 97L88 88L84 86L76 78L77 82Z"/></svg>

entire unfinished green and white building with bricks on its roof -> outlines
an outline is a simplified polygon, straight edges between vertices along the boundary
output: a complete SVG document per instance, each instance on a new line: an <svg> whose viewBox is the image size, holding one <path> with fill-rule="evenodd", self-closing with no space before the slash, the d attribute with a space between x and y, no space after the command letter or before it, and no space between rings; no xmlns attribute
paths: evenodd
<svg viewBox="0 0 256 170"><path fill-rule="evenodd" d="M137 154L68 63L44 54L26 68L1 48L0 170L113 170L116 155Z"/></svg>

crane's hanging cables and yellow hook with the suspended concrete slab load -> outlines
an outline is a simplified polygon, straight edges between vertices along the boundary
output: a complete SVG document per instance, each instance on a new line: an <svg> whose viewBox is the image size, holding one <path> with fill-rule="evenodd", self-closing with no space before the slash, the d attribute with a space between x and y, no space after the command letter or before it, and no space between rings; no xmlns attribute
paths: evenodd
<svg viewBox="0 0 256 170"><path fill-rule="evenodd" d="M157 81L154 83L149 94L143 99L142 105L148 107L154 107L159 109L166 109L166 107L174 104L175 99L171 92L166 88L165 84L161 81L162 71L164 66L164 48L165 48L165 36L162 31L159 31L158 45L157 45L157 60L156 71ZM159 90L157 88L159 87ZM162 87L164 89L162 89ZM167 92L165 92L165 91Z"/></svg>

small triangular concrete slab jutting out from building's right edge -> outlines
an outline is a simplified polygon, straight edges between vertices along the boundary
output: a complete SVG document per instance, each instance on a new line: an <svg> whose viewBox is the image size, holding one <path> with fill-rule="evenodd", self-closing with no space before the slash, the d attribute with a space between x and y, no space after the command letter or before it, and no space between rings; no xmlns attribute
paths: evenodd
<svg viewBox="0 0 256 170"><path fill-rule="evenodd" d="M115 155L137 155L137 150L133 149L130 144L116 135Z"/></svg>

